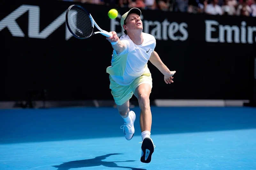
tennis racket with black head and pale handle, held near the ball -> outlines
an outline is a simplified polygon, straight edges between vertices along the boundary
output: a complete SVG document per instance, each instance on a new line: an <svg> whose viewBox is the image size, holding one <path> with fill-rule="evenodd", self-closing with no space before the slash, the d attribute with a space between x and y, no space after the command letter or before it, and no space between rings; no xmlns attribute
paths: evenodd
<svg viewBox="0 0 256 170"><path fill-rule="evenodd" d="M91 14L80 5L71 5L66 11L66 25L68 30L78 39L87 39L92 35L100 33L106 37L112 37L112 34L102 30L92 18ZM94 25L99 30L93 32Z"/></svg>

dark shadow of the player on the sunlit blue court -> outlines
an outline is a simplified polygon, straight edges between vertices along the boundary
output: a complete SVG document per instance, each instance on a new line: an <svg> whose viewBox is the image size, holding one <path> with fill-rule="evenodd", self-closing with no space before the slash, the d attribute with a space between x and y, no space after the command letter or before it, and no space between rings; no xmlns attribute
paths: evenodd
<svg viewBox="0 0 256 170"><path fill-rule="evenodd" d="M102 156L97 156L93 159L84 159L84 160L75 160L70 162L64 162L63 164L56 165L53 167L58 168L58 170L69 170L71 168L82 168L82 167L92 167L92 166L106 166L106 167L113 167L113 168L127 168L132 170L146 170L141 168L134 168L128 166L118 166L116 162L134 162L135 160L126 160L126 161L115 161L115 162L108 162L102 161L111 155L120 155L122 153L111 153Z"/></svg>

